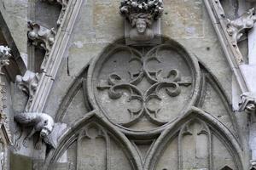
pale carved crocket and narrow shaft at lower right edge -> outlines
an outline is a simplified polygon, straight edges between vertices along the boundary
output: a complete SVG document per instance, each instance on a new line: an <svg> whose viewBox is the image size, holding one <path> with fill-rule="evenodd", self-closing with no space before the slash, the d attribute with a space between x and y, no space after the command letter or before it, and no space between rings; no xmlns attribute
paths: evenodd
<svg viewBox="0 0 256 170"><path fill-rule="evenodd" d="M241 103L239 111L245 111L250 116L249 122L249 146L252 151L252 159L250 161L251 168L256 168L256 93L241 94Z"/></svg>

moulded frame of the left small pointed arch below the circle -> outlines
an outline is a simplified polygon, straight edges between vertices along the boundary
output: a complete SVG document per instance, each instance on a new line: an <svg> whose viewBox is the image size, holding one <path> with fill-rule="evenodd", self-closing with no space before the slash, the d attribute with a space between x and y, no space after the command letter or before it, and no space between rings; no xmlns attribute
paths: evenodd
<svg viewBox="0 0 256 170"><path fill-rule="evenodd" d="M123 133L120 133L115 127L113 127L113 125L109 123L108 120L106 120L106 118L104 118L104 116L102 116L98 111L91 111L77 122L73 122L73 126L67 129L67 131L61 136L58 147L55 150L50 150L49 156L45 161L44 170L49 169L53 163L58 161L62 154L76 140L82 139L86 136L86 138L94 138L90 137L88 133L84 133L85 127L96 127L97 129L103 129L104 133L98 134L100 136L106 136L108 133L109 137L113 138L114 141L119 144L120 148L125 153L125 156L129 161L132 169L143 170L137 151L134 149L131 142L125 137ZM107 150L109 150L109 148Z"/></svg>

